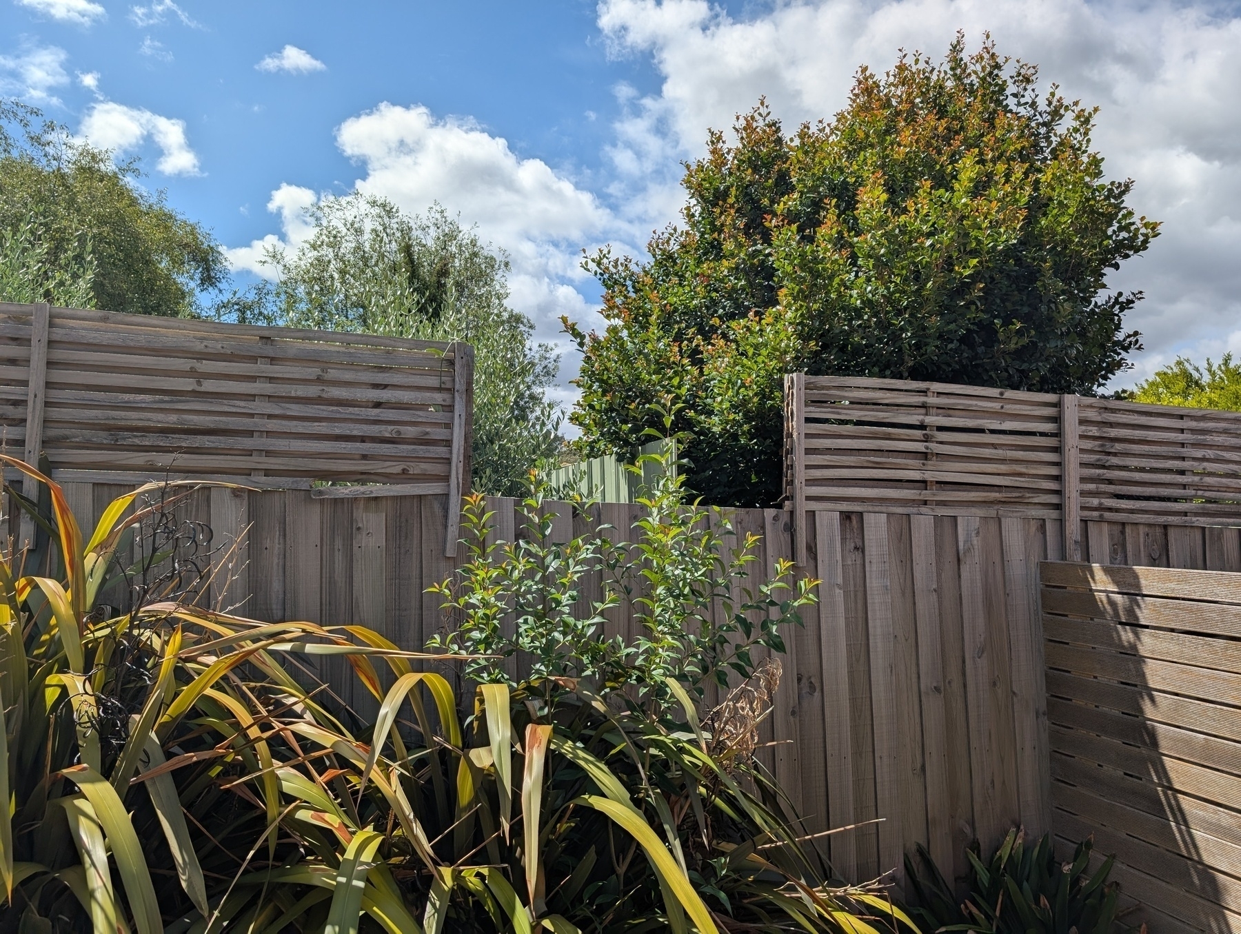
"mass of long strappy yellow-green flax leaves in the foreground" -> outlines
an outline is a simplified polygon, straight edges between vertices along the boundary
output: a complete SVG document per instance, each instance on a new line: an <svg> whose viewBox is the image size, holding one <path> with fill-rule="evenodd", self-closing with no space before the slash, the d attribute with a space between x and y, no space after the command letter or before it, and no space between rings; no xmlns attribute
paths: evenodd
<svg viewBox="0 0 1241 934"><path fill-rule="evenodd" d="M477 659L199 605L227 561L166 518L184 487L84 537L5 463L51 509L46 551L0 562L0 930L912 930L830 882L753 717L716 726L772 662L706 722L658 665L633 696L463 680ZM316 676L333 659L375 713Z"/></svg>

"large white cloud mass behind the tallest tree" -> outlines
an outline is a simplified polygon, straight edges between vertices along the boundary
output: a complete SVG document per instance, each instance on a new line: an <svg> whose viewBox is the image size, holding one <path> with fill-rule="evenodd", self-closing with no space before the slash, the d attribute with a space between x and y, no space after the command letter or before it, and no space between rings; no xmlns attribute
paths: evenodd
<svg viewBox="0 0 1241 934"><path fill-rule="evenodd" d="M1113 275L1147 294L1128 321L1148 349L1133 376L1179 349L1241 346L1241 17L1222 10L1207 0L782 0L732 16L705 0L603 0L611 51L645 57L663 78L648 97L620 89L612 189L673 220L676 160L701 154L707 128L728 128L759 96L792 130L830 119L858 66L884 71L900 48L941 56L958 29L973 48L989 31L1001 53L1102 107L1095 144L1108 174L1137 180L1131 203L1164 221L1150 251Z"/></svg>

